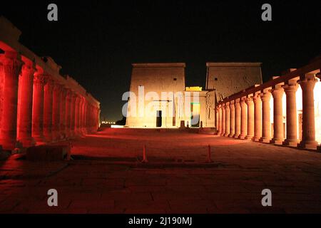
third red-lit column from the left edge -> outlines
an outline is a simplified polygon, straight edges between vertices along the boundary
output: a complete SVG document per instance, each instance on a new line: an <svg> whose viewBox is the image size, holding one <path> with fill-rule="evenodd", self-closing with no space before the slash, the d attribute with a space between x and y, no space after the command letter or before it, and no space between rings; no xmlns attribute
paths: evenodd
<svg viewBox="0 0 321 228"><path fill-rule="evenodd" d="M34 74L34 98L32 102L32 137L44 142L44 86L46 78L42 73Z"/></svg>

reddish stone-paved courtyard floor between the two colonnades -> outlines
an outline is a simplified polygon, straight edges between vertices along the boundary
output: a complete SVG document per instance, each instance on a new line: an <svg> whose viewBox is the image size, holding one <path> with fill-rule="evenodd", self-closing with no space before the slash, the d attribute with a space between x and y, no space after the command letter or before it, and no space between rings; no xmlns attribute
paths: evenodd
<svg viewBox="0 0 321 228"><path fill-rule="evenodd" d="M317 152L177 130L106 129L71 143L68 162L1 161L0 213L321 212ZM52 188L58 207L47 205Z"/></svg>

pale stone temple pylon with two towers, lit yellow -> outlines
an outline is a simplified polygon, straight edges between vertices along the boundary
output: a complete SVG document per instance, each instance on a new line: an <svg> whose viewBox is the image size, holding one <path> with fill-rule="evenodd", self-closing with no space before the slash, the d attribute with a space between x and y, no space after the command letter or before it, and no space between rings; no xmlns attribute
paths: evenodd
<svg viewBox="0 0 321 228"><path fill-rule="evenodd" d="M185 87L185 63L135 63L126 126L215 128L218 100L262 83L261 63L207 63L205 90Z"/></svg>

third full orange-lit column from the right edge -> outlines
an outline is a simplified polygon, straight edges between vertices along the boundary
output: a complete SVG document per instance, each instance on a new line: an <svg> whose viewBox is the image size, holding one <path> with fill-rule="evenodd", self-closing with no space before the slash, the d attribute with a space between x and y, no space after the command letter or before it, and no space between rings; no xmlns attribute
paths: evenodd
<svg viewBox="0 0 321 228"><path fill-rule="evenodd" d="M274 138L271 143L282 145L284 140L284 129L283 129L283 110L282 110L282 96L284 90L282 87L277 85L271 90L273 96L273 120L274 120Z"/></svg>

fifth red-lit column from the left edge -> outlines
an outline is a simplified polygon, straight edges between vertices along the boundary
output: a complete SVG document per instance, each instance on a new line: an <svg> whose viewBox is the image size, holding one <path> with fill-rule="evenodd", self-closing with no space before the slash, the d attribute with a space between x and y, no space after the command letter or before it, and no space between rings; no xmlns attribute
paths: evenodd
<svg viewBox="0 0 321 228"><path fill-rule="evenodd" d="M54 83L54 101L53 101L53 113L52 113L52 137L54 141L60 140L60 116L61 116L61 91L62 86L58 83Z"/></svg>

